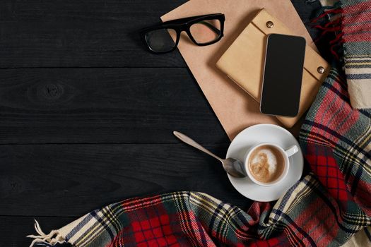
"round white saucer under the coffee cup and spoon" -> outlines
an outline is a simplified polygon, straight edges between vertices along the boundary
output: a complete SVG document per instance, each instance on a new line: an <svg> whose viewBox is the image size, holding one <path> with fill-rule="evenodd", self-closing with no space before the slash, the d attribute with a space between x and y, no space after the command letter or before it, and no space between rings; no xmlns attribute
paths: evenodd
<svg viewBox="0 0 371 247"><path fill-rule="evenodd" d="M260 202L277 200L302 176L303 158L302 150L295 137L285 128L273 124L257 124L246 128L239 133L228 147L227 158L232 157L244 161L247 150L252 145L259 143L276 143L286 149L292 145L298 145L299 152L290 157L290 169L288 175L275 186L259 186L248 177L238 179L228 174L232 186L245 197Z"/></svg>

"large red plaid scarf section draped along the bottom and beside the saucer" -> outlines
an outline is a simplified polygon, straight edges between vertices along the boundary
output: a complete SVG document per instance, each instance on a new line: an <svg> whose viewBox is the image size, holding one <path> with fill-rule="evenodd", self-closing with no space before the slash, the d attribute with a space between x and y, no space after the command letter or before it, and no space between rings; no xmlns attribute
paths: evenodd
<svg viewBox="0 0 371 247"><path fill-rule="evenodd" d="M346 2L352 8L359 1ZM320 88L300 132L312 171L273 207L255 202L245 212L197 192L133 198L90 212L50 234L36 222L39 235L30 236L33 243L341 246L362 230L369 237L363 244L370 245L371 110L351 107L346 78L333 68Z"/></svg>

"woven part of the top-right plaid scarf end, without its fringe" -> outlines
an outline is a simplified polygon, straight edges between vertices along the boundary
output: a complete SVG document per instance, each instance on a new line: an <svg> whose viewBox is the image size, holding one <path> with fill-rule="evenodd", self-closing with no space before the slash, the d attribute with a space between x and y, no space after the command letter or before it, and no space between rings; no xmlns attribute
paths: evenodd
<svg viewBox="0 0 371 247"><path fill-rule="evenodd" d="M351 104L371 108L371 1L341 1L341 42Z"/></svg>

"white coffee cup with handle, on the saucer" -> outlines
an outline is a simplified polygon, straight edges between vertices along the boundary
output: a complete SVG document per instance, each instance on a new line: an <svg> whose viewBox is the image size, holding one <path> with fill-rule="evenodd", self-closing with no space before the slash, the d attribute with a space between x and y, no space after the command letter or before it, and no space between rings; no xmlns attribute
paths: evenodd
<svg viewBox="0 0 371 247"><path fill-rule="evenodd" d="M264 183L264 182L261 182L261 181L258 181L257 179L255 179L254 176L252 176L252 174L250 172L250 169L249 169L250 155L252 155L252 152L254 152L254 150L256 150L258 147L261 147L261 146L264 146L264 145L268 145L268 146L271 146L271 147L275 148L276 150L278 150L278 152L281 153L281 155L283 157L283 166L284 167L283 167L283 171L282 171L281 175L278 176L278 178L276 180L271 181L269 183ZM297 153L298 151L299 151L299 147L297 145L293 145L293 146L289 147L287 150L284 150L282 147L280 147L279 145L276 145L275 143L260 143L258 145L254 145L253 147L251 147L247 151L247 153L245 155L245 163L244 163L245 173L247 174L247 176L249 176L249 179L251 179L254 183L257 183L260 186L273 186L276 183L279 183L280 181L285 179L285 176L287 176L287 174L288 174L288 169L290 168L289 157L295 155L295 153Z"/></svg>

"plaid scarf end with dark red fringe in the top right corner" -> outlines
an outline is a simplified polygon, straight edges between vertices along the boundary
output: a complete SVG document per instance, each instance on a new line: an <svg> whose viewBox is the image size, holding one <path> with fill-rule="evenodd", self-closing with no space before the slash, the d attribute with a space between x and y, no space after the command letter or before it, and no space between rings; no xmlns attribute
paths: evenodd
<svg viewBox="0 0 371 247"><path fill-rule="evenodd" d="M331 40L334 49L343 52L343 64L351 105L356 109L371 108L371 2L370 0L320 0L323 13L329 16L329 23L317 25L324 32L335 31ZM337 56L338 57L338 56Z"/></svg>

